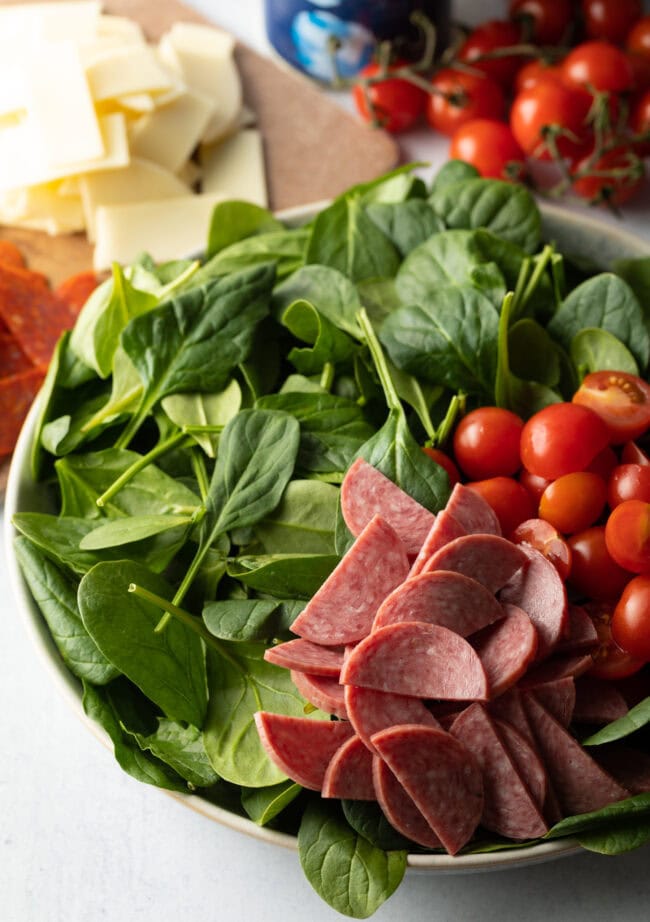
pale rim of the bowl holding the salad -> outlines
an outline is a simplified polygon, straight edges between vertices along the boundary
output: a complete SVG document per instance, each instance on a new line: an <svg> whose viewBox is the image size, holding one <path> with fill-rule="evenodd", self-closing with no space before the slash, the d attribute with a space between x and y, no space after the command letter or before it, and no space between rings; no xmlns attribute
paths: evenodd
<svg viewBox="0 0 650 922"><path fill-rule="evenodd" d="M309 220L328 202L314 202L309 205L288 209L278 213L278 217L288 223L298 223ZM542 220L546 236L558 228L563 228L572 239L574 233L591 233L595 229L610 242L621 255L628 253L632 256L650 256L650 240L644 240L624 228L611 226L604 222L590 221L586 215L575 214L558 205L542 202L540 204ZM604 268L607 268L605 266ZM107 749L112 750L112 742L108 734L91 720L83 710L81 700L81 684L68 670L61 658L54 641L49 633L43 616L40 613L27 584L22 576L16 555L13 553L13 539L16 530L12 524L12 517L19 511L28 492L33 486L30 476L30 453L40 412L40 395L32 404L30 411L21 429L16 447L9 467L7 488L4 501L4 542L5 556L8 565L9 582L13 591L16 609L31 641L41 657L47 672L57 686L59 692L71 710L82 721L86 728ZM220 825L237 832L249 835L252 838L269 844L282 846L291 851L297 851L297 838L288 833L259 826L247 817L232 813L223 807L211 803L196 794L182 794L164 789L163 793L173 797L179 803L218 822ZM582 847L575 839L555 839L541 841L533 845L506 848L503 851L480 852L466 855L443 855L409 853L407 865L418 871L436 871L442 873L468 873L473 871L489 871L521 867L537 864L553 858L559 858L582 851Z"/></svg>

